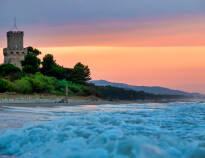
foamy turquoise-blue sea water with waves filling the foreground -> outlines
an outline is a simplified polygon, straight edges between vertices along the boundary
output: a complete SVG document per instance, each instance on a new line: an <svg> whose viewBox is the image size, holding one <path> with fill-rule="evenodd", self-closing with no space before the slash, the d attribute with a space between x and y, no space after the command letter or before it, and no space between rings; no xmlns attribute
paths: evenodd
<svg viewBox="0 0 205 158"><path fill-rule="evenodd" d="M204 158L205 104L1 107L0 157Z"/></svg>

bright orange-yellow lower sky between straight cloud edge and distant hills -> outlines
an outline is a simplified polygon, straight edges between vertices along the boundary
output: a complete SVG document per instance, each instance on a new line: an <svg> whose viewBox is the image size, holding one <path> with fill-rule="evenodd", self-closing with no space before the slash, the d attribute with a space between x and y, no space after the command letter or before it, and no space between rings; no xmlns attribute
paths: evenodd
<svg viewBox="0 0 205 158"><path fill-rule="evenodd" d="M54 47L58 63L89 65L93 79L205 93L205 47Z"/></svg>

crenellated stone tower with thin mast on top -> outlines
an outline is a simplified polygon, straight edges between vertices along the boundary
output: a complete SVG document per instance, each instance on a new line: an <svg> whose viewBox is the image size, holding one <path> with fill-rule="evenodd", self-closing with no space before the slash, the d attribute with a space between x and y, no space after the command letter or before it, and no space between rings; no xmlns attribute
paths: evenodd
<svg viewBox="0 0 205 158"><path fill-rule="evenodd" d="M13 64L19 68L21 67L21 61L24 60L24 56L27 54L27 49L23 47L23 31L18 31L16 22L14 29L7 32L7 48L4 48L4 64Z"/></svg>

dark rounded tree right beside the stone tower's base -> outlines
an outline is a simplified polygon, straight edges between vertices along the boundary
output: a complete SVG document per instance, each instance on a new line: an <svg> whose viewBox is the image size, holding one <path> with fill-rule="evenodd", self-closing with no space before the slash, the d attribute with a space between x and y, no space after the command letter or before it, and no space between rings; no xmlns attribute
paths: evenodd
<svg viewBox="0 0 205 158"><path fill-rule="evenodd" d="M23 67L23 72L34 74L39 71L40 59L37 58L34 54L28 53L24 60L21 62Z"/></svg>

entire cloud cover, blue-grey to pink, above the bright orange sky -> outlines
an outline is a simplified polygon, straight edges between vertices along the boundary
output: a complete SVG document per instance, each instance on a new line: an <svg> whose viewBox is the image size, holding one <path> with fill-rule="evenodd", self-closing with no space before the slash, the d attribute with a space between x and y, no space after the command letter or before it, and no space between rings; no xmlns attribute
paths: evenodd
<svg viewBox="0 0 205 158"><path fill-rule="evenodd" d="M204 45L204 6L204 0L0 0L0 40L17 17L33 45Z"/></svg>

